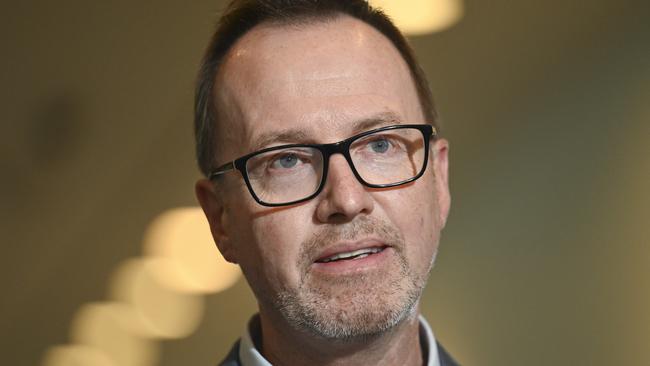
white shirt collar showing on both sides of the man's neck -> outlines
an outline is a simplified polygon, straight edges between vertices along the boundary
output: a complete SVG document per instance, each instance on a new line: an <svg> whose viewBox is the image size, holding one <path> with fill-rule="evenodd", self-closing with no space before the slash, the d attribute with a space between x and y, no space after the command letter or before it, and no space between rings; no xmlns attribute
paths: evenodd
<svg viewBox="0 0 650 366"><path fill-rule="evenodd" d="M425 357L428 357L426 365L440 366L438 346L433 331L422 315L419 316L419 323L422 354ZM258 340L261 339L259 324L259 315L256 315L250 320L241 337L241 343L239 345L239 360L241 361L242 366L271 366L271 363L262 356L257 348L255 348L255 342L253 342L253 337Z"/></svg>

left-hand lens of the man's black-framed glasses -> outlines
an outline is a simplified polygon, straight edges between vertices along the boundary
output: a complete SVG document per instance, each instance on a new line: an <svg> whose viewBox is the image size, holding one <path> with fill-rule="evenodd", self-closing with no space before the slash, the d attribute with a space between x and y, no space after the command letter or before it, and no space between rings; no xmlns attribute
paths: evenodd
<svg viewBox="0 0 650 366"><path fill-rule="evenodd" d="M250 158L246 171L260 201L269 204L297 201L318 190L323 176L323 155L311 147L267 151Z"/></svg>

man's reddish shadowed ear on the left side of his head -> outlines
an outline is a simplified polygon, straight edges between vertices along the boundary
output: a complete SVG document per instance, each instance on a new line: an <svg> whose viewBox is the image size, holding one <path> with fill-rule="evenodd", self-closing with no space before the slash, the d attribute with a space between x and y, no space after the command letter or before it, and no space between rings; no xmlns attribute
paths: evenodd
<svg viewBox="0 0 650 366"><path fill-rule="evenodd" d="M236 248L229 235L227 208L218 194L214 184L208 179L201 179L194 186L196 198L210 224L210 231L217 248L230 263L237 263Z"/></svg>

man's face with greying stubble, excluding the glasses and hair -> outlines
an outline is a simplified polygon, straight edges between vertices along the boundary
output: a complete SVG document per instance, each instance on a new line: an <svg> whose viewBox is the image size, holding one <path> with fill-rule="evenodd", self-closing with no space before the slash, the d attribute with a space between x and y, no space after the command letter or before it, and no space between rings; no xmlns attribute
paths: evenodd
<svg viewBox="0 0 650 366"><path fill-rule="evenodd" d="M347 16L255 27L226 57L216 103L219 164L265 147L424 123L398 51ZM298 205L261 206L234 173L216 187L199 182L197 194L263 318L326 338L376 334L414 314L425 285L449 208L447 143L432 144L419 180L390 189L364 187L337 154L323 191ZM356 250L364 255L323 263Z"/></svg>

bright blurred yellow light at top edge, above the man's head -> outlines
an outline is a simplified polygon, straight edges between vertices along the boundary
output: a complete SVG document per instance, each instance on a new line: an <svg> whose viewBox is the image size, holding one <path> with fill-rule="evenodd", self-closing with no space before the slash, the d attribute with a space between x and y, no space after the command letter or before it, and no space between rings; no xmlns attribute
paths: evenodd
<svg viewBox="0 0 650 366"><path fill-rule="evenodd" d="M370 0L407 35L423 35L451 27L463 16L462 0Z"/></svg>

